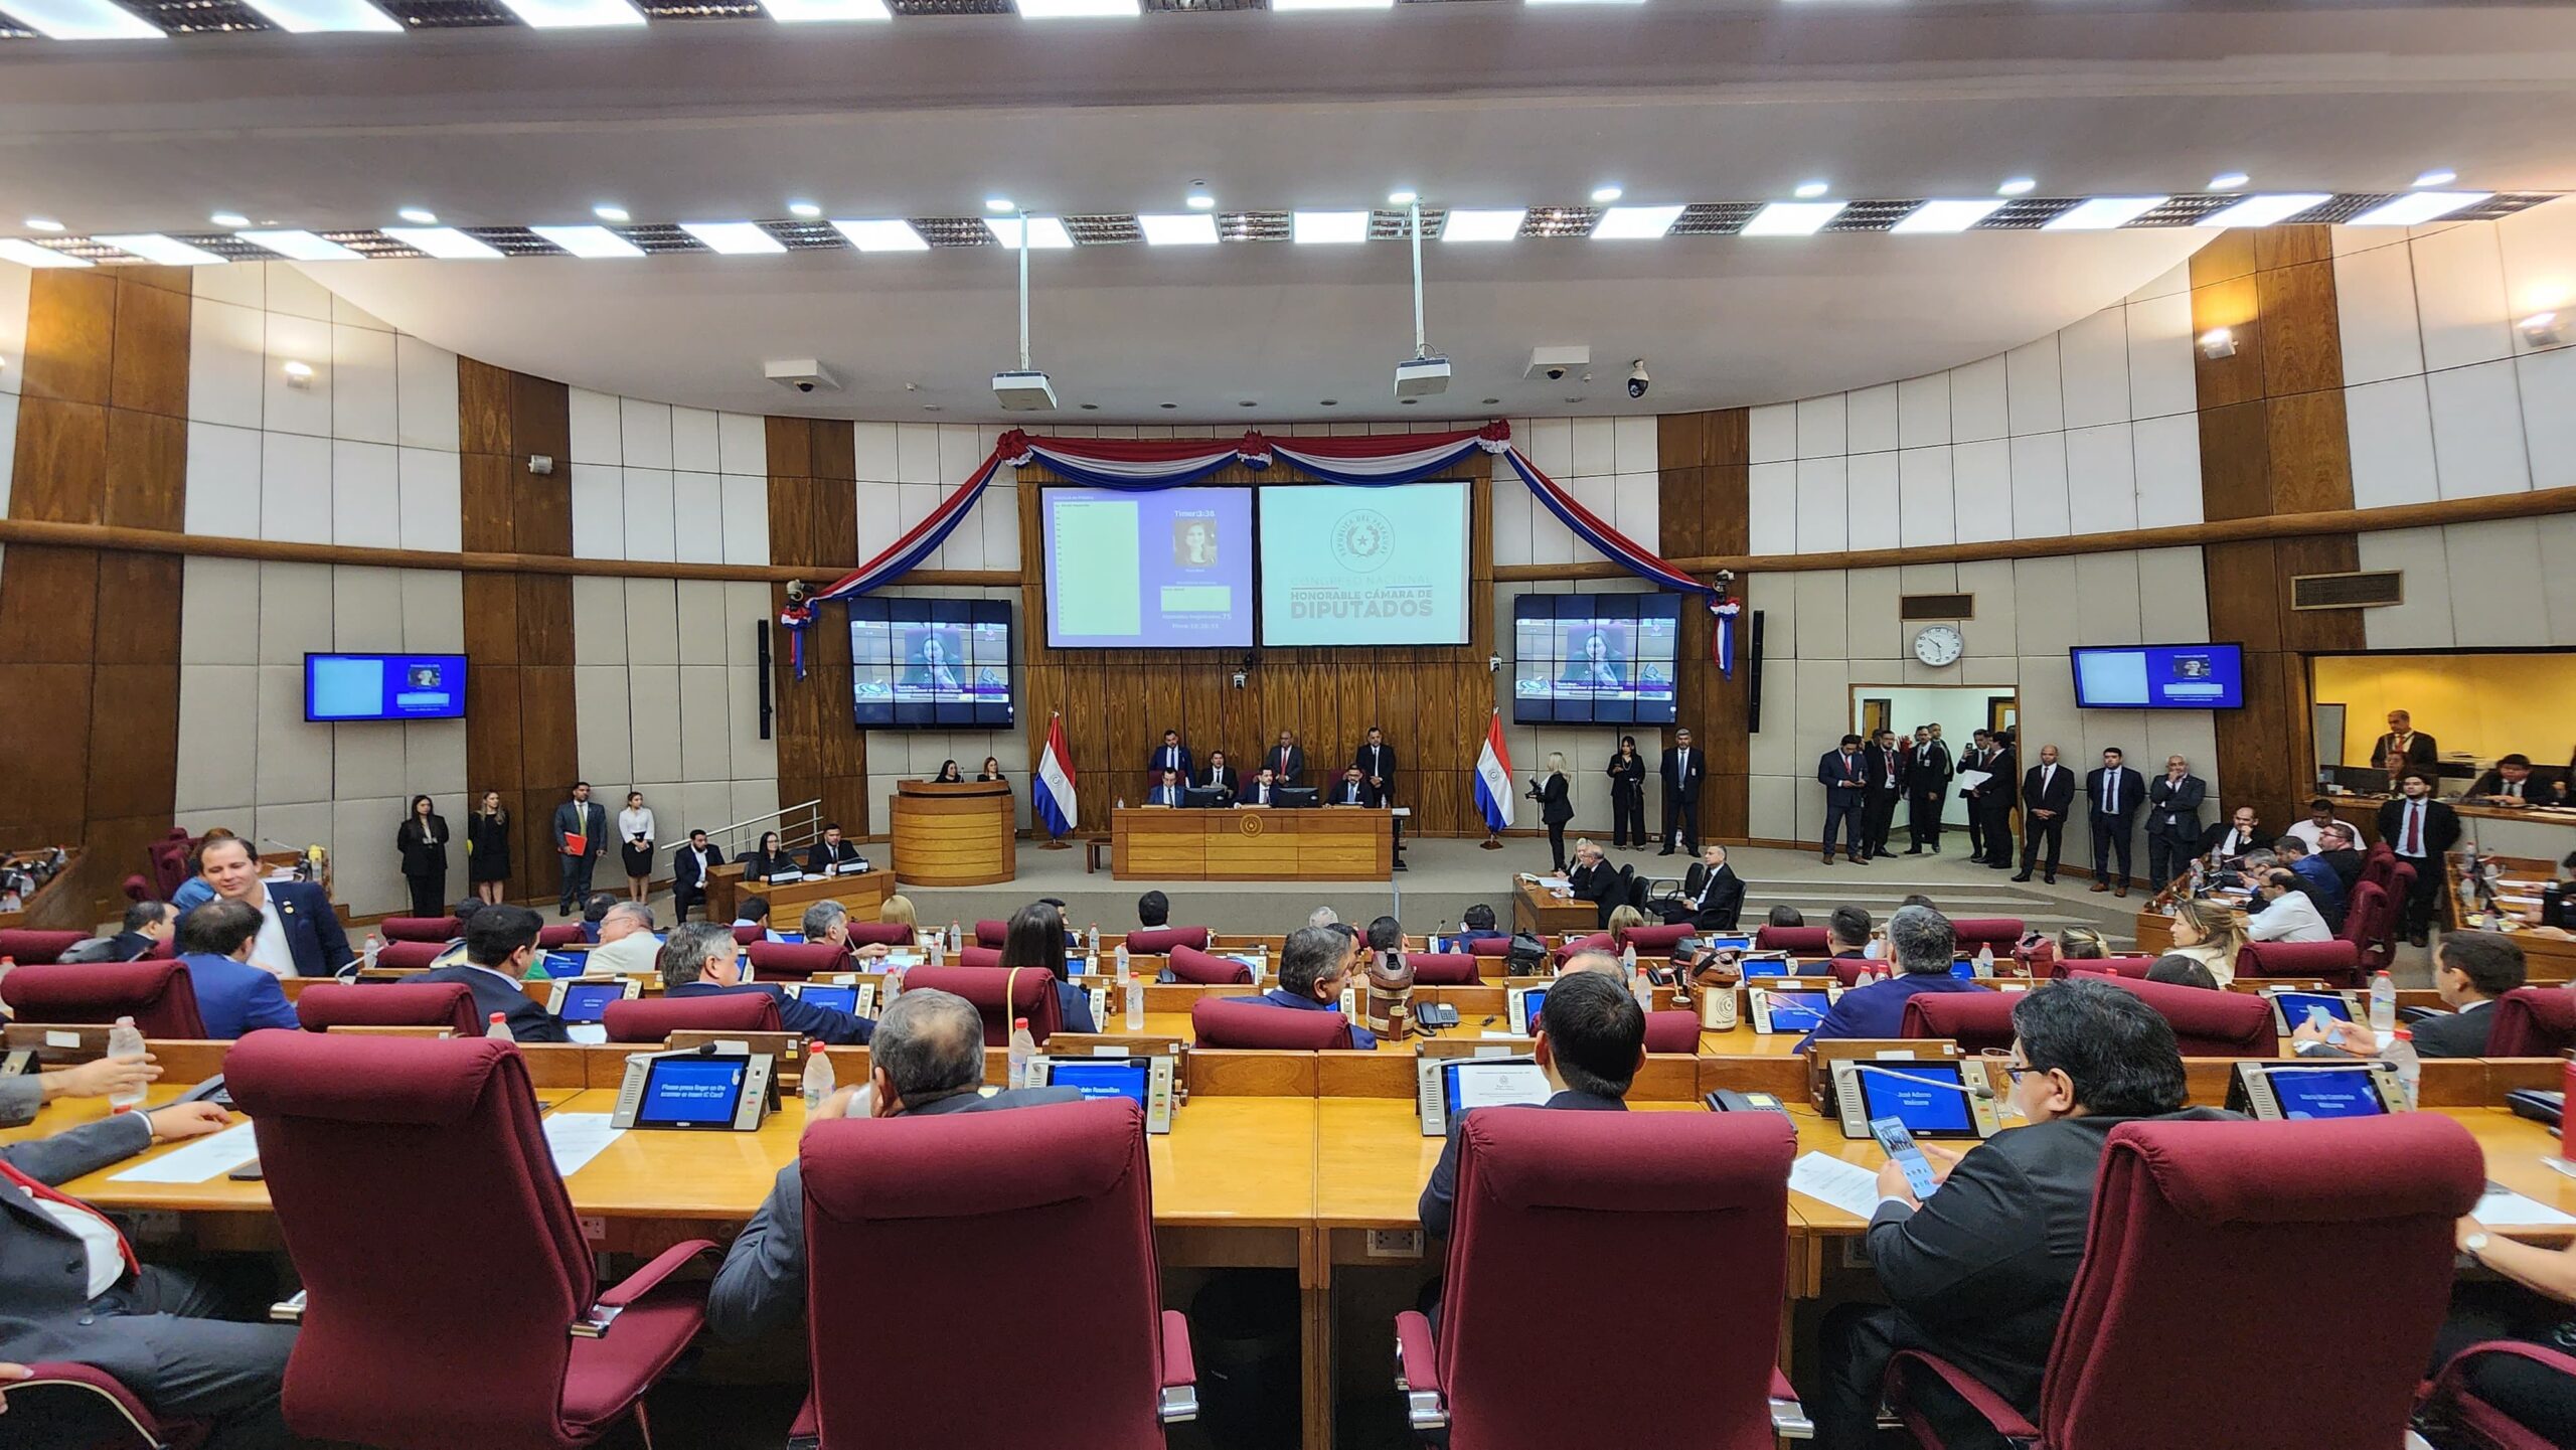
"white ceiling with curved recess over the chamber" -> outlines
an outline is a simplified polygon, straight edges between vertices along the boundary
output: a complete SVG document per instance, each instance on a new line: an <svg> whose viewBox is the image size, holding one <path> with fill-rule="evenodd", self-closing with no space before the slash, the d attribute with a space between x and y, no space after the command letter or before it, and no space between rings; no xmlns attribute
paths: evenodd
<svg viewBox="0 0 2576 1450"><path fill-rule="evenodd" d="M762 21L631 33L206 36L0 46L0 219L204 229L237 209L374 227L1043 211L2197 191L2576 191L2576 10L2300 0L1651 0L1530 10L1162 13L1113 23ZM1971 361L2081 317L2205 232L1432 245L1440 410L1394 410L1399 245L1038 252L1038 366L1087 420L1741 404ZM762 358L819 355L829 412L999 417L1010 255L814 252L314 268L379 317L582 386L781 410ZM1589 343L1592 389L1520 381ZM904 384L920 384L907 394ZM1584 394L1582 404L1564 397ZM1502 404L1481 404L1499 397ZM1236 407L1252 399L1255 410ZM1159 402L1177 402L1172 412Z"/></svg>

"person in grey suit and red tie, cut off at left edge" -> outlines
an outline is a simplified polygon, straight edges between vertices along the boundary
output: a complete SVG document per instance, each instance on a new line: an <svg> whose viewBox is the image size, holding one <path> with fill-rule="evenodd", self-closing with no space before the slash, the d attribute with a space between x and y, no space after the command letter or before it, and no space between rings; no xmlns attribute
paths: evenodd
<svg viewBox="0 0 2576 1450"><path fill-rule="evenodd" d="M227 1125L214 1102L173 1102L0 1146L0 1360L106 1370L157 1419L206 1422L206 1450L283 1450L278 1386L296 1332L258 1321L265 1295L229 1303L211 1280L142 1265L116 1223L54 1190Z"/></svg>

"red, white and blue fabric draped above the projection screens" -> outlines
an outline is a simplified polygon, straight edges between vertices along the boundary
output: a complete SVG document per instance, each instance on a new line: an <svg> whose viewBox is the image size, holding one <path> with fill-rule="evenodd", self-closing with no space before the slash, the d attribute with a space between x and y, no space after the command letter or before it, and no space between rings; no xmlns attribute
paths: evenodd
<svg viewBox="0 0 2576 1450"><path fill-rule="evenodd" d="M1033 438L1012 430L1002 435L992 456L976 466L974 476L958 492L930 510L930 518L912 525L876 559L835 579L817 598L858 598L917 569L966 520L976 500L984 497L984 484L1005 464L1012 469L1046 464L1077 484L1133 492L1177 489L1236 464L1267 469L1273 461L1291 464L1329 484L1391 487L1450 471L1476 451L1502 456L1548 513L1613 564L1656 587L1698 595L1710 608L1718 608L1716 590L1664 564L1654 551L1587 510L1556 479L1540 474L1538 464L1530 464L1512 443L1512 425L1502 420L1458 433L1378 433L1368 438L1267 438L1262 433L1244 433L1236 443L1216 438ZM1721 641L1731 634L1726 628L1728 618L1723 610L1718 613ZM1718 644L1716 652L1718 667L1728 670L1731 644Z"/></svg>

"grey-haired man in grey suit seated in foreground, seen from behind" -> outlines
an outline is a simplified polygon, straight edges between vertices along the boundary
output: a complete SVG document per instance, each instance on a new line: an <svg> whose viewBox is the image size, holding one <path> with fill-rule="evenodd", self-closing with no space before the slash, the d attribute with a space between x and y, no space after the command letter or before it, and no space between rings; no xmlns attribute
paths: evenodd
<svg viewBox="0 0 2576 1450"><path fill-rule="evenodd" d="M1020 1087L981 1095L984 1017L974 1002L935 986L904 992L886 1007L868 1043L868 1082L835 1092L811 1120L927 1118L994 1113L1046 1102L1082 1102L1077 1087ZM778 1169L768 1203L744 1223L706 1295L706 1326L742 1342L791 1321L806 1303L804 1174Z"/></svg>

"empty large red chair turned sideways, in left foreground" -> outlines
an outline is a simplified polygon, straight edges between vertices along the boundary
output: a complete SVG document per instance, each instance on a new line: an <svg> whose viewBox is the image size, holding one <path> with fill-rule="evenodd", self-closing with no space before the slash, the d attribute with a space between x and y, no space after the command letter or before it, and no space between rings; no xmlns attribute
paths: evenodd
<svg viewBox="0 0 2576 1450"><path fill-rule="evenodd" d="M513 1043L252 1033L224 1082L304 1280L296 1435L569 1450L698 1334L706 1285L667 1280L714 1244L603 1293Z"/></svg>

